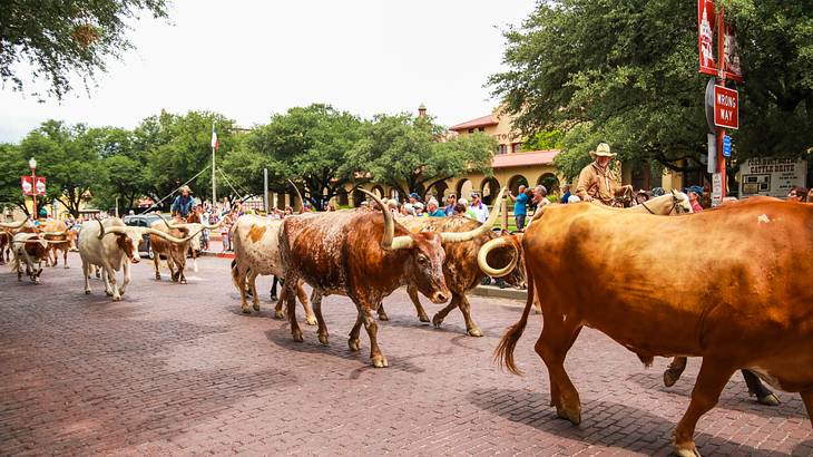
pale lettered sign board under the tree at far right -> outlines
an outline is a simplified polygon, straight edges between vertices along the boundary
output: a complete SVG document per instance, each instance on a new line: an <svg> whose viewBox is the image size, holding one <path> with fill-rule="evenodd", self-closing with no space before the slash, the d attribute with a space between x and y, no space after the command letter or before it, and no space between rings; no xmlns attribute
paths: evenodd
<svg viewBox="0 0 813 457"><path fill-rule="evenodd" d="M787 196L794 186L804 186L807 161L793 158L750 158L739 166L739 197Z"/></svg>

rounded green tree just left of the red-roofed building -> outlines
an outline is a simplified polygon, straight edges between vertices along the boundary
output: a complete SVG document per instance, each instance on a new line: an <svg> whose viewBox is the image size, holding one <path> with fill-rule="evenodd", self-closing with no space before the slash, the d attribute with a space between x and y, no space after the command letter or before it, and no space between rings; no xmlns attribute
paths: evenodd
<svg viewBox="0 0 813 457"><path fill-rule="evenodd" d="M374 182L390 185L401 195L423 193L474 169L491 174L493 138L477 133L442 140L444 134L428 117L379 115L364 125L364 137L351 163L361 164L360 169Z"/></svg>

